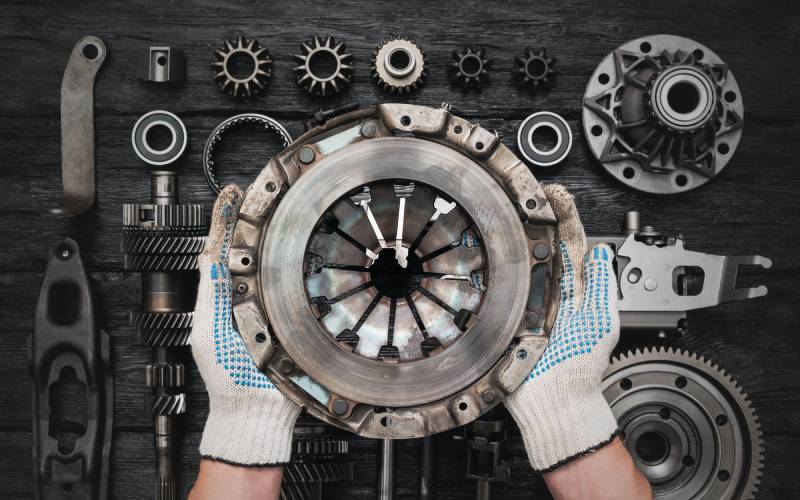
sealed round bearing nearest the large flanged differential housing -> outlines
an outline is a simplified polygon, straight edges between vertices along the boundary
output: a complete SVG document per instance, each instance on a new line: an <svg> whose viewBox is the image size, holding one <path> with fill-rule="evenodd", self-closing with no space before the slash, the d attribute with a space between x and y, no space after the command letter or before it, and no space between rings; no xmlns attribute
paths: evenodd
<svg viewBox="0 0 800 500"><path fill-rule="evenodd" d="M555 132L555 146L543 150L534 142L534 134L545 127ZM549 167L567 157L572 149L572 130L567 121L560 115L550 111L534 113L522 122L517 131L517 147L519 152L533 165Z"/></svg>

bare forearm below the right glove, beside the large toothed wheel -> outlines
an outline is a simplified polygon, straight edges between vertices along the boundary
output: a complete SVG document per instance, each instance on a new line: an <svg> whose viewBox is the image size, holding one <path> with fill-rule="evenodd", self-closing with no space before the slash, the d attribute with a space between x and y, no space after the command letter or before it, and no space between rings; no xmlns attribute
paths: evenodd
<svg viewBox="0 0 800 500"><path fill-rule="evenodd" d="M649 500L650 483L619 438L544 475L556 500Z"/></svg>

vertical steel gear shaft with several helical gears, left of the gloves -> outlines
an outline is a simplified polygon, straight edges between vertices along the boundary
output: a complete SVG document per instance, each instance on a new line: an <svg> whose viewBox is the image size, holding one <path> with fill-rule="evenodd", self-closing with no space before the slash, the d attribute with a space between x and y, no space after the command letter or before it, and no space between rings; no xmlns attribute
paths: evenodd
<svg viewBox="0 0 800 500"><path fill-rule="evenodd" d="M178 202L178 177L153 171L150 203L123 206L123 268L142 273L142 306L131 311L139 342L153 348L145 366L152 394L145 411L153 417L156 500L177 498L177 417L186 412L185 349L197 296L197 258L208 228L203 206Z"/></svg>

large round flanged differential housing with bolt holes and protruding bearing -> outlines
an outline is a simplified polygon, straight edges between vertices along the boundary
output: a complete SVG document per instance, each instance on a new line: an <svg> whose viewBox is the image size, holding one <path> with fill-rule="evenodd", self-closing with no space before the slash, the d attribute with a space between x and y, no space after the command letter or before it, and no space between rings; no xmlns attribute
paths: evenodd
<svg viewBox="0 0 800 500"><path fill-rule="evenodd" d="M699 187L719 174L742 135L739 85L722 59L688 38L627 42L595 69L583 130L603 167L648 193Z"/></svg>

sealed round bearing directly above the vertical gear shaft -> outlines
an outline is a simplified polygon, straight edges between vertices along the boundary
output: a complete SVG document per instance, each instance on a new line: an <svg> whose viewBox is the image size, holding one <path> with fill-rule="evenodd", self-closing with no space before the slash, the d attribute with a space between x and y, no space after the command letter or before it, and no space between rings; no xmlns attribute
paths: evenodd
<svg viewBox="0 0 800 500"><path fill-rule="evenodd" d="M169 145L163 148L152 144L151 133L163 129L169 132ZM133 126L131 142L136 155L150 165L169 165L183 154L188 135L183 122L164 110L150 111L142 115Z"/></svg>

